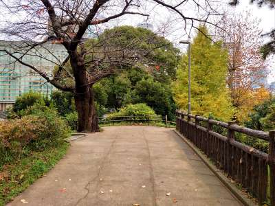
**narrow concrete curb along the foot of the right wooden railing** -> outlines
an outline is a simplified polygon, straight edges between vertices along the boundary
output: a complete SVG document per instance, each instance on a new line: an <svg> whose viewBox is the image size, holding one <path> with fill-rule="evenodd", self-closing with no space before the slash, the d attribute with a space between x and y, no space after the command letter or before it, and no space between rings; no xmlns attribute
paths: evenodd
<svg viewBox="0 0 275 206"><path fill-rule="evenodd" d="M199 156L199 158L203 161L203 163L205 163L208 168L219 178L219 180L221 181L221 183L223 183L223 185L225 185L225 187L228 188L228 190L230 190L230 192L241 202L243 203L243 205L245 206L256 206L256 203L254 203L252 200L250 200L250 198L248 198L247 196L245 196L245 194L243 194L243 192L241 192L236 185L234 185L233 183L230 182L230 179L228 179L223 172L221 172L221 170L218 170L207 158L205 155L203 155L201 153L201 151L196 148L191 141L189 141L186 137L184 137L184 135L181 135L177 130L172 129L177 135L179 135L179 137L181 137L181 139L183 139L186 144L188 144L188 146Z"/></svg>

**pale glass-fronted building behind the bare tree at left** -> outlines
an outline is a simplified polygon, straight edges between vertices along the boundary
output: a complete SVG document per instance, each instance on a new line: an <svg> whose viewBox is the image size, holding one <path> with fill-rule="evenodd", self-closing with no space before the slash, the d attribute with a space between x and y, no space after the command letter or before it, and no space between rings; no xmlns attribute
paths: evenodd
<svg viewBox="0 0 275 206"><path fill-rule="evenodd" d="M22 50L22 45L21 42L0 41L0 49L13 52L17 58L27 52L21 58L23 62L47 73L48 76L52 76L54 67L60 65L67 56L61 44L45 43L30 51L28 47ZM20 50L17 51L17 47ZM50 96L53 89L52 84L46 82L30 67L22 65L5 52L0 52L0 111L5 110L7 105L14 103L16 98L25 92L32 90Z"/></svg>

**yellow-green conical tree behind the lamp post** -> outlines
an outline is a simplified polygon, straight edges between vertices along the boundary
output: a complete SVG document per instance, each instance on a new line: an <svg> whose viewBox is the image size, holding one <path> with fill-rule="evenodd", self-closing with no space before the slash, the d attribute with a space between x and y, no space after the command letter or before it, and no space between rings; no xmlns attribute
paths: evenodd
<svg viewBox="0 0 275 206"><path fill-rule="evenodd" d="M200 30L208 35L206 27ZM193 114L212 115L228 120L233 115L230 95L226 88L227 51L221 43L197 33L191 44L191 111ZM173 82L174 99L183 110L188 108L188 55L184 55Z"/></svg>

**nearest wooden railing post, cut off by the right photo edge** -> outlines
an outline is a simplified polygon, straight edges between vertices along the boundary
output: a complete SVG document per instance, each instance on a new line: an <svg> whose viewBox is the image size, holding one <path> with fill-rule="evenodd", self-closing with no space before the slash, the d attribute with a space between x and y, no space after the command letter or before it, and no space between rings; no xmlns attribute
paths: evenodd
<svg viewBox="0 0 275 206"><path fill-rule="evenodd" d="M270 165L270 201L271 205L275 205L275 130L270 130L270 150L267 162Z"/></svg>

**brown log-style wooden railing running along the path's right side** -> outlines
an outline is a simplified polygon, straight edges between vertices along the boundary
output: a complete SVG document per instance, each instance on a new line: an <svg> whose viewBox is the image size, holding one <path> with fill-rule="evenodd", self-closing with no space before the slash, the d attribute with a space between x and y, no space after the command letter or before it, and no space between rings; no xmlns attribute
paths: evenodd
<svg viewBox="0 0 275 206"><path fill-rule="evenodd" d="M202 126L204 125L204 126ZM227 135L214 132L225 128ZM264 203L275 206L275 130L269 133L177 111L176 128L241 187ZM268 154L236 141L243 133L269 141Z"/></svg>

